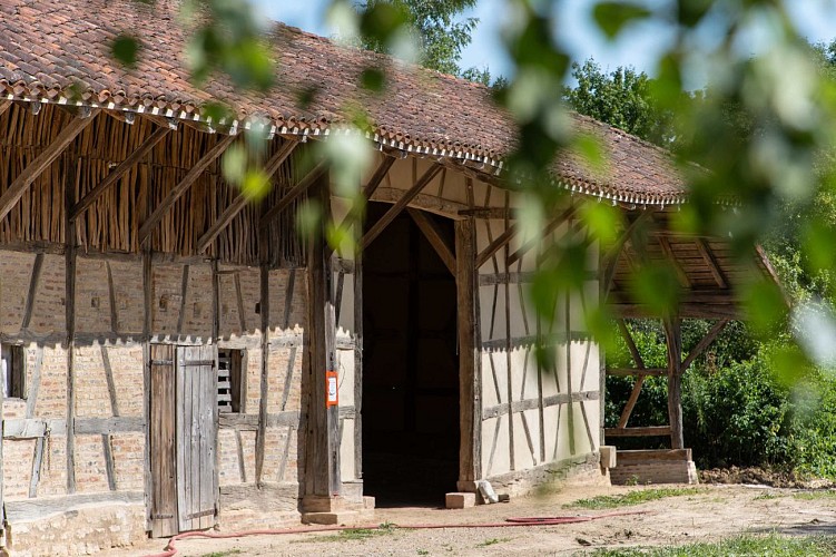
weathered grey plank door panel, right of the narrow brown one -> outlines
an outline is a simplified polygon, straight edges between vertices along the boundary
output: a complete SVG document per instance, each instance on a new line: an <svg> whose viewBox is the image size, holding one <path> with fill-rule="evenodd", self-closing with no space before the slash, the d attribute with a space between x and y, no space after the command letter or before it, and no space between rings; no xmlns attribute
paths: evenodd
<svg viewBox="0 0 836 557"><path fill-rule="evenodd" d="M217 512L215 346L177 349L177 509L180 531L210 528Z"/></svg>

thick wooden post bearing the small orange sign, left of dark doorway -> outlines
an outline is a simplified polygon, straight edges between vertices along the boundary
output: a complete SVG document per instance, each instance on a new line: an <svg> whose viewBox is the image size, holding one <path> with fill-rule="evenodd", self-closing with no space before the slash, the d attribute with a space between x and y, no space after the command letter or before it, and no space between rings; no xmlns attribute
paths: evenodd
<svg viewBox="0 0 836 557"><path fill-rule="evenodd" d="M317 184L330 218L331 197L327 179ZM311 390L308 428L305 440L306 494L315 497L340 496L340 409L327 403L326 371L336 371L336 329L332 289L331 250L322 234L308 242L308 329L311 331Z"/></svg>

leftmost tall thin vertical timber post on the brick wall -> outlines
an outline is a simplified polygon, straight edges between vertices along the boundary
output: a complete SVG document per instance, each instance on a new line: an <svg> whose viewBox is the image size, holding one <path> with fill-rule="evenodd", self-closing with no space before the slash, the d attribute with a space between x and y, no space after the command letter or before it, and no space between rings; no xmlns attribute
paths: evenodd
<svg viewBox="0 0 836 557"><path fill-rule="evenodd" d="M82 120L83 121L83 120ZM67 324L67 492L76 492L76 157L65 157L65 320Z"/></svg>

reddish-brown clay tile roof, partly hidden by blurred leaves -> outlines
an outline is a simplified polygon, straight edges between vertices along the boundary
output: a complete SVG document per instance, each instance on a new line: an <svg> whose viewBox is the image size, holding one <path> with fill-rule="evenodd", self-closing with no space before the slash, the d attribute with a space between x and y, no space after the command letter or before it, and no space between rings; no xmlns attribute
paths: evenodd
<svg viewBox="0 0 836 557"><path fill-rule="evenodd" d="M266 117L281 133L314 135L340 127L360 101L374 123L368 137L391 148L475 160L486 172L499 173L502 157L514 147L512 119L495 106L488 88L281 23L271 31L279 62L271 91L243 92L219 78L197 89L183 61L186 35L177 21L177 3L0 0L0 97L76 102L80 94L88 105L189 119L200 118L201 105L219 100L239 119ZM140 62L132 70L110 56L114 38L124 30L142 41ZM387 70L383 95L363 92L356 85L370 66ZM311 90L313 102L301 106L302 94ZM610 162L606 172L596 174L572 157L563 158L554 168L563 186L622 203L685 201L685 182L667 153L591 118L573 119L578 128L602 139Z"/></svg>

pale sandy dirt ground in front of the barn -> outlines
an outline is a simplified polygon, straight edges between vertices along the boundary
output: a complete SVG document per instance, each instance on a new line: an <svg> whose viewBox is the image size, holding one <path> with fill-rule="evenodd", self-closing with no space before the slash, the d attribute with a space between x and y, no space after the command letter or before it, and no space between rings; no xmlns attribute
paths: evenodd
<svg viewBox="0 0 836 557"><path fill-rule="evenodd" d="M812 491L765 486L701 486L697 494L670 497L638 506L581 510L564 505L598 495L619 495L642 487L572 488L545 497L518 498L506 504L465 510L432 508L378 509L370 524L472 524L503 521L508 517L578 517L610 512L599 520L559 526L410 530L394 528L368 537L356 535L292 534L232 539L177 541L178 555L239 556L365 556L365 555L583 555L597 548L681 545L715 541L744 532L836 535L836 494L804 496ZM819 490L818 494L822 494ZM265 525L269 527L269 525ZM141 556L158 553L166 540L149 540L130 550L109 555Z"/></svg>

